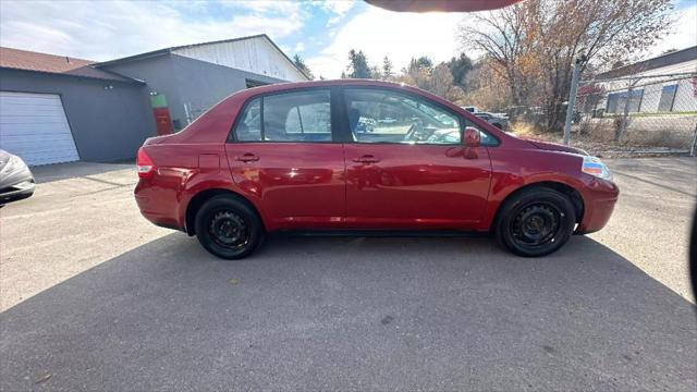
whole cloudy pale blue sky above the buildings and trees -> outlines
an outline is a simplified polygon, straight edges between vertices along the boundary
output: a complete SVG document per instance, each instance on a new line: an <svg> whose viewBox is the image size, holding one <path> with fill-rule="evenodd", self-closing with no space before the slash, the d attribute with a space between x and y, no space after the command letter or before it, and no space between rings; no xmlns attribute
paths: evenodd
<svg viewBox="0 0 697 392"><path fill-rule="evenodd" d="M363 50L370 65L387 56L398 71L412 57L447 61L463 49L457 26L467 16L398 13L352 0L0 0L0 46L106 61L266 33L289 57L305 59L316 76L334 78L350 49ZM695 45L697 0L677 0L671 34L647 56Z"/></svg>

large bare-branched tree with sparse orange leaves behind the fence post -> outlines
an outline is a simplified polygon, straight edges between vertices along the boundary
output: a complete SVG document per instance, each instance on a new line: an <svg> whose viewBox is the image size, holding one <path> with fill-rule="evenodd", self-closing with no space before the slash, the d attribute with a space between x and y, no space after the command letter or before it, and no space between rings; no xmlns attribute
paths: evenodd
<svg viewBox="0 0 697 392"><path fill-rule="evenodd" d="M670 0L527 0L475 17L461 39L492 60L510 105L541 102L546 127L559 130L574 60L583 53L598 69L626 61L668 30L671 9Z"/></svg>

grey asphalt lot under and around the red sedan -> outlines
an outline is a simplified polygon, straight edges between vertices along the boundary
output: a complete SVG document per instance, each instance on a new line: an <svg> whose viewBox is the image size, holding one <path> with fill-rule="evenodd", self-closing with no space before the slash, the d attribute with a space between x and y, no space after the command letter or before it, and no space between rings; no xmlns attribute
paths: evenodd
<svg viewBox="0 0 697 392"><path fill-rule="evenodd" d="M540 259L271 237L222 261L139 216L131 166L36 168L0 210L0 390L695 391L697 159L608 163L608 228Z"/></svg>

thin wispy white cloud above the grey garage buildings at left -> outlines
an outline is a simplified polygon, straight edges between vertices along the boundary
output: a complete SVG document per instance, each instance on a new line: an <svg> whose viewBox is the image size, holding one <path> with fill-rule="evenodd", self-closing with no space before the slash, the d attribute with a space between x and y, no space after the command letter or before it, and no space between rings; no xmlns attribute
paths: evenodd
<svg viewBox="0 0 697 392"><path fill-rule="evenodd" d="M211 4L2 0L0 45L102 61L260 33L282 38L299 30L305 16L295 2L273 3L266 14L270 2L234 2L245 12L228 12L230 17L211 14Z"/></svg>

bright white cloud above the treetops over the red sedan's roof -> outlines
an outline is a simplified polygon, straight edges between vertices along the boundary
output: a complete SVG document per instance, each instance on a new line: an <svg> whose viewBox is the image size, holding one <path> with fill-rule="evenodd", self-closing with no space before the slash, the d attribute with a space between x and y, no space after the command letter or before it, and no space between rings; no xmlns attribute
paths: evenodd
<svg viewBox="0 0 697 392"><path fill-rule="evenodd" d="M387 56L395 70L412 57L428 56L435 62L456 56L458 13L398 13L370 7L341 26L333 42L307 59L316 75L339 77L351 49L363 50L370 65L382 64ZM331 32L330 32L331 36Z"/></svg>

